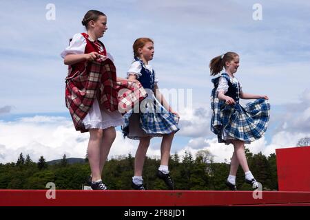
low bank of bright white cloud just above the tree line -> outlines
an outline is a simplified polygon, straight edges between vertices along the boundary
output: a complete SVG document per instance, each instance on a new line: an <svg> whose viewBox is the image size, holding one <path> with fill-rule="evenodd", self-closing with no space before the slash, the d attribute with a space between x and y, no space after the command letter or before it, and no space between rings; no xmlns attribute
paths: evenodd
<svg viewBox="0 0 310 220"><path fill-rule="evenodd" d="M273 135L269 144L265 137L262 137L246 146L251 153L262 152L268 156L270 153L276 153L276 148L296 146L298 140L306 136L309 136L309 133L279 131ZM14 122L0 121L0 162L16 162L19 153L29 154L35 162L41 155L47 160L60 159L63 154L67 157L83 158L88 138L88 133L76 132L72 122L63 117L34 116ZM158 140L152 140L147 156L160 158ZM121 131L116 131L116 140L109 158L128 153L134 156L137 146L138 141L124 139ZM229 162L234 147L231 144L219 144L216 137L208 139L203 135L192 138L187 144L184 143L184 147L176 152L180 157L185 155L185 151L191 152L195 157L200 150L210 151L214 155L214 162Z"/></svg>

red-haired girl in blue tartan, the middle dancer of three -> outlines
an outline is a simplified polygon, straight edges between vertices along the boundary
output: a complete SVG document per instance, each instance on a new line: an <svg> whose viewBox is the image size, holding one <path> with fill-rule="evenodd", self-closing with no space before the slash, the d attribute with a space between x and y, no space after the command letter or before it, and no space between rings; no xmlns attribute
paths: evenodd
<svg viewBox="0 0 310 220"><path fill-rule="evenodd" d="M174 133L178 128L178 113L172 111L163 95L158 89L158 79L149 61L154 56L154 42L148 38L136 39L133 45L135 61L127 72L128 79L137 79L147 91L147 98L140 104L139 109L132 109L123 116L125 124L123 133L125 136L140 140L134 160L134 177L132 187L136 190L144 190L143 164L149 142L152 137L163 137L161 142L161 166L157 171L157 177L163 179L170 190L174 189L174 183L169 175L168 162L170 148Z"/></svg>

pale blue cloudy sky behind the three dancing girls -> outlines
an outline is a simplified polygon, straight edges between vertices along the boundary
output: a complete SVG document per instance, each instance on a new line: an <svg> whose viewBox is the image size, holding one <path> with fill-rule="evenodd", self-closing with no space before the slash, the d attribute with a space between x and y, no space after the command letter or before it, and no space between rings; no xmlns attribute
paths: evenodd
<svg viewBox="0 0 310 220"><path fill-rule="evenodd" d="M56 7L52 21L45 18L48 3ZM262 21L252 18L254 3L262 5ZM262 140L249 146L251 150L268 155L309 135L307 1L2 1L0 39L5 43L0 45L0 80L4 82L0 87L0 162L16 160L21 151L30 153L34 160L43 153L48 159L63 153L84 155L87 136L74 131L65 108L67 67L60 53L70 37L84 31L81 20L90 9L107 14L108 30L101 41L114 56L118 76L125 77L132 62L134 40L148 36L154 39L155 56L150 64L158 75L159 87L192 89L193 107L181 113L182 127L172 152L208 149L218 161L229 159L232 148L216 144L209 131L212 85L208 70L211 58L228 51L240 54L236 77L243 90L266 94L271 102L269 129ZM68 124L63 125L65 121ZM58 143L41 142L48 140L46 132L61 128L70 133L68 138L54 133ZM41 136L30 131L41 132ZM21 133L28 134L25 140ZM81 136L85 140L76 150L70 138L81 140ZM15 142L15 137L21 142ZM149 155L158 155L159 141L152 142ZM39 149L50 151L39 151L34 142ZM126 140L130 147L118 151L121 143L119 137L111 155L135 151L138 144Z"/></svg>

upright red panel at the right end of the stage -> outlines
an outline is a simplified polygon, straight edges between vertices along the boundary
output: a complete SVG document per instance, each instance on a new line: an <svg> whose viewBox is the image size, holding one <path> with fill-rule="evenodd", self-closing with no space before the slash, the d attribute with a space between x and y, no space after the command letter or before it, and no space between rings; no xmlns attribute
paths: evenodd
<svg viewBox="0 0 310 220"><path fill-rule="evenodd" d="M310 146L276 149L280 191L310 192Z"/></svg>

